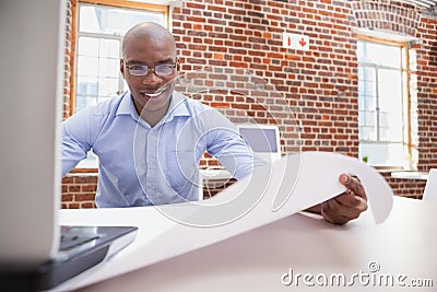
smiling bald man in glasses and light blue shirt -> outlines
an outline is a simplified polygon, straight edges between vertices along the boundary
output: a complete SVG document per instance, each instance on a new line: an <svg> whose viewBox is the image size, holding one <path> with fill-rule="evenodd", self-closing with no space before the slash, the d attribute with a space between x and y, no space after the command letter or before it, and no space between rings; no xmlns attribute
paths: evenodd
<svg viewBox="0 0 437 292"><path fill-rule="evenodd" d="M99 159L97 207L194 200L204 151L237 179L264 164L227 118L174 91L177 67L173 35L157 24L140 23L122 42L120 72L129 91L63 122L62 175L93 149ZM344 224L367 209L367 199L355 178L342 175L340 182L349 190L310 211Z"/></svg>

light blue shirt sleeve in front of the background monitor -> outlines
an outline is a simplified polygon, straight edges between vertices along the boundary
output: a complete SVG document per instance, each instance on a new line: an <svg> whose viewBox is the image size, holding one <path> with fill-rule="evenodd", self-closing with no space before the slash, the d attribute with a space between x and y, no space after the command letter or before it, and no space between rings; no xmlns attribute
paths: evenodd
<svg viewBox="0 0 437 292"><path fill-rule="evenodd" d="M208 126L209 154L216 157L226 170L237 179L250 175L253 171L268 165L261 160L245 139L238 133L237 128L218 110L210 109Z"/></svg>

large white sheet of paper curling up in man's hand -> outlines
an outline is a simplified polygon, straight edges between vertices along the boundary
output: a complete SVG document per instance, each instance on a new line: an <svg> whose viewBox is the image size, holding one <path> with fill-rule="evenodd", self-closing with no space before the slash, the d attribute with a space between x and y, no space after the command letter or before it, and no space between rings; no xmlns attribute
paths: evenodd
<svg viewBox="0 0 437 292"><path fill-rule="evenodd" d="M134 243L59 290L78 289L224 241L326 201L345 190L341 174L362 180L376 223L390 213L393 192L371 166L330 152L290 154L215 197L160 207L61 210L61 224L134 225ZM358 219L359 220L359 219Z"/></svg>

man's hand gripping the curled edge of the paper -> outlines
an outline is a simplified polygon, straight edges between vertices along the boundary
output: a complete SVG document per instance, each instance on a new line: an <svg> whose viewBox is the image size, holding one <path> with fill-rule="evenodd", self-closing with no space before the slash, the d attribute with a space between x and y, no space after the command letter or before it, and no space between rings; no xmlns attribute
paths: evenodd
<svg viewBox="0 0 437 292"><path fill-rule="evenodd" d="M362 183L350 175L339 178L347 190L320 205L320 213L330 223L345 224L367 210L367 196Z"/></svg>

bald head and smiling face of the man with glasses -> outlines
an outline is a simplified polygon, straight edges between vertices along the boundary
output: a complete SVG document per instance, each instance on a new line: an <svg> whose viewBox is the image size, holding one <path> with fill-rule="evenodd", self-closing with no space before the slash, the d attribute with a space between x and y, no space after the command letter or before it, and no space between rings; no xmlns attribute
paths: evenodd
<svg viewBox="0 0 437 292"><path fill-rule="evenodd" d="M122 55L120 72L137 112L153 127L168 110L177 72L175 40L158 25L138 25L126 34Z"/></svg>

